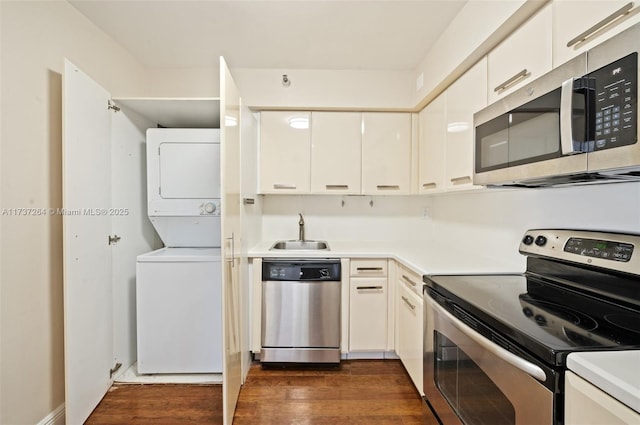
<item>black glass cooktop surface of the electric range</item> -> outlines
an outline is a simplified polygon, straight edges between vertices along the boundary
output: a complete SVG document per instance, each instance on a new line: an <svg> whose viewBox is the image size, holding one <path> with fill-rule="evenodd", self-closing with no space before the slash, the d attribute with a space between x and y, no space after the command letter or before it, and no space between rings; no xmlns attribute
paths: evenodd
<svg viewBox="0 0 640 425"><path fill-rule="evenodd" d="M446 299L459 318L470 314L551 366L564 366L575 351L640 348L640 309L615 296L604 299L531 273L424 280L426 292L441 304Z"/></svg>

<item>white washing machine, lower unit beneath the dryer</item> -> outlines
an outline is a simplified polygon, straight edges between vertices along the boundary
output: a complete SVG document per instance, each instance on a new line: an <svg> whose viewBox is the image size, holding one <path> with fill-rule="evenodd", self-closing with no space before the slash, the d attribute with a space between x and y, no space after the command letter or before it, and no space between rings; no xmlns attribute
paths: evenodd
<svg viewBox="0 0 640 425"><path fill-rule="evenodd" d="M220 248L163 248L136 264L138 373L221 373Z"/></svg>

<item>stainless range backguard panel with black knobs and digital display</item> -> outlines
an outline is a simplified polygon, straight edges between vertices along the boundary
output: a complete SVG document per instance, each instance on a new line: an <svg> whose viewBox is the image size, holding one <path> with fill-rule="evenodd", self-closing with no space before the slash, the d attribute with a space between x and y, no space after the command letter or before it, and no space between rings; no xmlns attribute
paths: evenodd
<svg viewBox="0 0 640 425"><path fill-rule="evenodd" d="M528 230L520 241L523 255L547 257L640 275L640 235L588 230Z"/></svg>

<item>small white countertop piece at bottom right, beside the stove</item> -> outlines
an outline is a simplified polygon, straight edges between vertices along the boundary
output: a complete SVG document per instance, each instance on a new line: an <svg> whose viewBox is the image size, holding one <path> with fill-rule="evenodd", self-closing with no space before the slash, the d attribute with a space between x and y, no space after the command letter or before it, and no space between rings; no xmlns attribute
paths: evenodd
<svg viewBox="0 0 640 425"><path fill-rule="evenodd" d="M640 413L640 350L571 353L567 367Z"/></svg>

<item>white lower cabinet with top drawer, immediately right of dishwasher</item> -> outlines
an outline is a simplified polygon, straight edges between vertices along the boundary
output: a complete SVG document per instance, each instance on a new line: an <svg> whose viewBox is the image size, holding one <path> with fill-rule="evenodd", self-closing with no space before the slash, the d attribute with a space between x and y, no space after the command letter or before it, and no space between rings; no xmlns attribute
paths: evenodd
<svg viewBox="0 0 640 425"><path fill-rule="evenodd" d="M351 260L349 351L387 350L387 260Z"/></svg>

